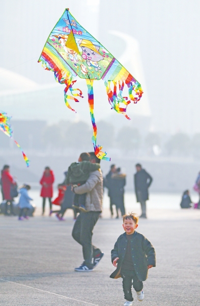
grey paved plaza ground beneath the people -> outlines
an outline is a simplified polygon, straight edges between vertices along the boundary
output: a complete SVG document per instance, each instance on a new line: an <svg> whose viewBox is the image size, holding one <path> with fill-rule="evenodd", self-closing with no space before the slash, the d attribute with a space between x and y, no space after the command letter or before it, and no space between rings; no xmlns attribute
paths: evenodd
<svg viewBox="0 0 200 306"><path fill-rule="evenodd" d="M1 306L123 305L122 279L109 278L114 269L110 250L123 233L122 220L104 216L93 242L105 256L93 272L82 273L73 270L82 253L71 237L71 216L63 222L0 216ZM139 220L138 232L154 245L157 267L144 282L144 301L134 293L133 305L199 306L200 212L149 210L149 219Z"/></svg>

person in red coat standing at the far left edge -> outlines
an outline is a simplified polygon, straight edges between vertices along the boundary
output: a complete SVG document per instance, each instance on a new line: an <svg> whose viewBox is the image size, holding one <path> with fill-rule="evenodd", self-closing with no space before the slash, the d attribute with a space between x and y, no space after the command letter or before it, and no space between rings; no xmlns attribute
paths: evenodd
<svg viewBox="0 0 200 306"><path fill-rule="evenodd" d="M11 196L11 187L16 185L12 175L10 174L10 166L5 165L2 169L2 177L1 177L1 185L2 185L2 193L3 199L6 200L5 206L5 215L10 213L13 214L13 198ZM8 206L10 206L10 211L8 211Z"/></svg>

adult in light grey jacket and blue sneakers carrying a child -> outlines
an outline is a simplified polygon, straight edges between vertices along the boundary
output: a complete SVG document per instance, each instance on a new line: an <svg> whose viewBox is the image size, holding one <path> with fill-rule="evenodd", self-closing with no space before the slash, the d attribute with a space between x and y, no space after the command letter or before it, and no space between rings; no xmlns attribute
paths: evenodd
<svg viewBox="0 0 200 306"><path fill-rule="evenodd" d="M90 152L91 163L100 163L94 152ZM87 182L81 186L75 187L76 194L87 193L85 208L88 212L80 212L78 215L72 237L82 245L84 261L75 271L93 271L103 257L103 252L92 244L93 228L99 219L102 211L103 202L103 175L101 169L90 173Z"/></svg>

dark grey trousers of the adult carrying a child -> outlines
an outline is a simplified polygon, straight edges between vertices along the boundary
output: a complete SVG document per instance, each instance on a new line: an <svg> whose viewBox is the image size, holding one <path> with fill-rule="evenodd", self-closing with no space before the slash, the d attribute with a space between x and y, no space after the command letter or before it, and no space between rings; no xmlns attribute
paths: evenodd
<svg viewBox="0 0 200 306"><path fill-rule="evenodd" d="M72 231L72 237L82 245L84 264L89 268L93 268L92 259L101 252L99 248L92 244L92 231L99 216L100 212L80 212Z"/></svg>

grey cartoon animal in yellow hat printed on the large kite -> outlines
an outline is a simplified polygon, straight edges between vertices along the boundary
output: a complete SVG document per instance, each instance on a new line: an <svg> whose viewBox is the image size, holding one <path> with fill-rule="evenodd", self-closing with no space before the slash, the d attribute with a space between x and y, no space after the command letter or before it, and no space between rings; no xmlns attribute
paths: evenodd
<svg viewBox="0 0 200 306"><path fill-rule="evenodd" d="M101 70L98 62L103 60L103 56L99 53L99 46L94 45L92 41L87 39L80 39L79 46L82 48L82 58L86 60L88 66L95 68L95 71Z"/></svg>

